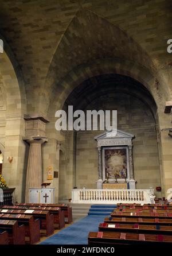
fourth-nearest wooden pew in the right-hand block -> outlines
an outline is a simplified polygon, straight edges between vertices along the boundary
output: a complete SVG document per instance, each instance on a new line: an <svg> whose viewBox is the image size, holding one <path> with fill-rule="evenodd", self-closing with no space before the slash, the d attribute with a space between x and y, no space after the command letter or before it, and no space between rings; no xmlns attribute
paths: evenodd
<svg viewBox="0 0 172 256"><path fill-rule="evenodd" d="M135 216L140 216L142 218L166 218L166 219L172 219L172 214L169 213L161 213L158 214L158 212L122 212L122 211L114 211L111 213L112 217L116 216L123 216L123 217L130 217L134 218Z"/></svg>

